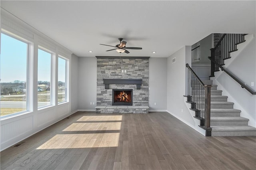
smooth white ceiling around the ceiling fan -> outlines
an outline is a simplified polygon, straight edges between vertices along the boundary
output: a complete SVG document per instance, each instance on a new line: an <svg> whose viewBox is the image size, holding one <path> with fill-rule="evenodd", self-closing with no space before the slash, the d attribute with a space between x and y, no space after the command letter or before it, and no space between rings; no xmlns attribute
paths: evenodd
<svg viewBox="0 0 256 170"><path fill-rule="evenodd" d="M169 57L211 33L255 34L256 1L4 1L1 7L80 57ZM89 53L88 51L93 51ZM152 51L157 53L153 54Z"/></svg>

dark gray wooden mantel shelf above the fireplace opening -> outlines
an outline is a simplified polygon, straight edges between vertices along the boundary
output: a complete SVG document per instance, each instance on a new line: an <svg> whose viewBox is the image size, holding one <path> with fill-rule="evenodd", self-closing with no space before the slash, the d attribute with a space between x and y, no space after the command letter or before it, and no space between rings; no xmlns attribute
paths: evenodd
<svg viewBox="0 0 256 170"><path fill-rule="evenodd" d="M110 84L136 84L137 90L140 90L142 79L103 79L105 89L109 89Z"/></svg>

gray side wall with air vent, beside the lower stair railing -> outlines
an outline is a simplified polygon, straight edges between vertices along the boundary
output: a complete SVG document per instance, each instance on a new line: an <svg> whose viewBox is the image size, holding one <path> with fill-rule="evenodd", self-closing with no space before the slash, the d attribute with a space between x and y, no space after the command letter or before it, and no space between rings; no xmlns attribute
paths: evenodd
<svg viewBox="0 0 256 170"><path fill-rule="evenodd" d="M172 63L174 57L176 57L176 62ZM183 97L186 95L185 65L186 61L189 61L189 57L191 57L191 46L186 46L167 59L167 111L184 123L194 126L195 122L184 103Z"/></svg>

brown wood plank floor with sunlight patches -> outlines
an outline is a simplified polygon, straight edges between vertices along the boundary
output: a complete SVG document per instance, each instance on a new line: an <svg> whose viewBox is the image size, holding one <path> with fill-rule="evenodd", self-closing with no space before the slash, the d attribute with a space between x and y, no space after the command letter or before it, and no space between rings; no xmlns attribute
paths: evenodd
<svg viewBox="0 0 256 170"><path fill-rule="evenodd" d="M1 170L256 169L255 136L205 137L166 112L77 112L24 142Z"/></svg>

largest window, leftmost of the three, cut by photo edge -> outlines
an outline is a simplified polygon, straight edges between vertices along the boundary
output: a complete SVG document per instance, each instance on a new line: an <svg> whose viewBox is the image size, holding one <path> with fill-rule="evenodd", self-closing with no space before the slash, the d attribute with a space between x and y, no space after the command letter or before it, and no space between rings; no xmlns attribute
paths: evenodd
<svg viewBox="0 0 256 170"><path fill-rule="evenodd" d="M1 33L0 116L27 111L28 43Z"/></svg>

